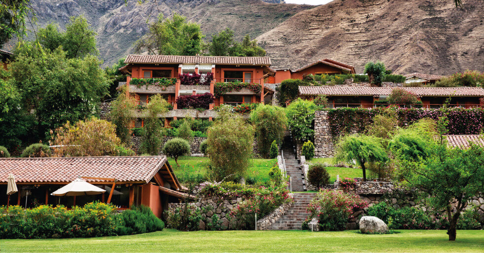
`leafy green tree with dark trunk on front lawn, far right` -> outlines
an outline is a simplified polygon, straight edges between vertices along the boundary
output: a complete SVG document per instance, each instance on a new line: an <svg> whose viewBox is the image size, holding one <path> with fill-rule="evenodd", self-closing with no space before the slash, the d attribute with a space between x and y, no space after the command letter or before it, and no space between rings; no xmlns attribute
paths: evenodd
<svg viewBox="0 0 484 253"><path fill-rule="evenodd" d="M409 157L404 148L394 149L396 173L408 187L424 192L420 197L436 210L446 211L449 241L455 241L461 212L471 197L484 191L484 148L472 143L466 149L451 148L442 135L439 137L442 142L421 136L431 151L426 156Z"/></svg>

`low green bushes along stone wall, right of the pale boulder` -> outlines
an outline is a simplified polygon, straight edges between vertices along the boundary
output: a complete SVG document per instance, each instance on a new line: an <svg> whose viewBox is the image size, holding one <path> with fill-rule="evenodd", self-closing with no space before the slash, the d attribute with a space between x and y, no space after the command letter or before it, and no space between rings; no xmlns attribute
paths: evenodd
<svg viewBox="0 0 484 253"><path fill-rule="evenodd" d="M430 214L415 207L394 208L380 202L367 210L369 216L375 216L388 224L390 229L447 229L449 221L442 213ZM475 211L466 211L459 217L457 229L481 229Z"/></svg>

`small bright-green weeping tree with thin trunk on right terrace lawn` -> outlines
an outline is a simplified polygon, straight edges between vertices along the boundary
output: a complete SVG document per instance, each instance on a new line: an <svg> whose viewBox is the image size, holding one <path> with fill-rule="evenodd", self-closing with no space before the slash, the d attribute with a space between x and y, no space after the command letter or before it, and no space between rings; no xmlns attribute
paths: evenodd
<svg viewBox="0 0 484 253"><path fill-rule="evenodd" d="M340 138L336 144L336 160L353 163L356 161L363 170L366 181L365 163L386 162L388 155L379 138L366 135L348 135Z"/></svg>

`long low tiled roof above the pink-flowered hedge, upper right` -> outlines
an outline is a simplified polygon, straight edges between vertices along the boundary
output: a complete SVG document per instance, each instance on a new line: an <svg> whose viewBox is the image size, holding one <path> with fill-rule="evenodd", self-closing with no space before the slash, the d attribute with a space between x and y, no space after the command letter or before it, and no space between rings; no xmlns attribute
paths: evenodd
<svg viewBox="0 0 484 253"><path fill-rule="evenodd" d="M299 95L330 95L330 96L375 96L390 95L392 87L350 87L350 86L299 86ZM470 96L484 97L484 89L480 87L403 87L417 96Z"/></svg>

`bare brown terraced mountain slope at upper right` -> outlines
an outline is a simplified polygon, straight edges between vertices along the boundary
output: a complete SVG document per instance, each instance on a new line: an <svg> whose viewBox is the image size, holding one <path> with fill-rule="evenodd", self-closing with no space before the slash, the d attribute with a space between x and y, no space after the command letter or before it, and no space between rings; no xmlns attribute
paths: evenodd
<svg viewBox="0 0 484 253"><path fill-rule="evenodd" d="M484 71L484 1L334 0L257 39L274 67L331 58L356 67L382 60L397 73Z"/></svg>

